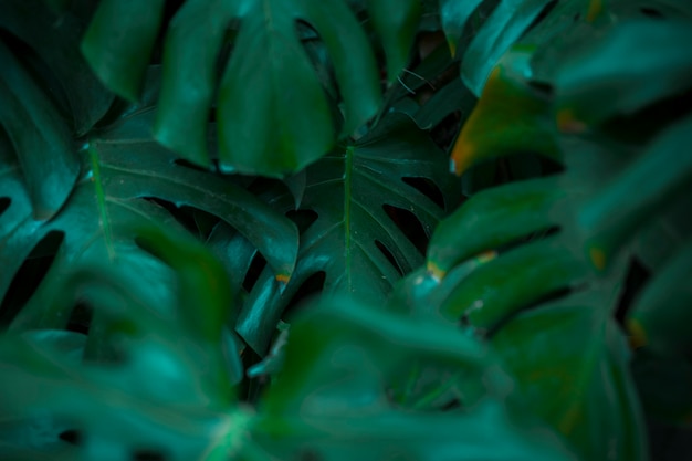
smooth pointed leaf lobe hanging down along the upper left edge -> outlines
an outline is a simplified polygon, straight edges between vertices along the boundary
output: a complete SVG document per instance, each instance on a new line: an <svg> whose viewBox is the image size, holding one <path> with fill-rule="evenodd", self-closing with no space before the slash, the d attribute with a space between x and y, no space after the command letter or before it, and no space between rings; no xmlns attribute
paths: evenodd
<svg viewBox="0 0 692 461"><path fill-rule="evenodd" d="M22 167L34 219L63 206L80 174L70 129L57 108L0 41L0 124Z"/></svg>

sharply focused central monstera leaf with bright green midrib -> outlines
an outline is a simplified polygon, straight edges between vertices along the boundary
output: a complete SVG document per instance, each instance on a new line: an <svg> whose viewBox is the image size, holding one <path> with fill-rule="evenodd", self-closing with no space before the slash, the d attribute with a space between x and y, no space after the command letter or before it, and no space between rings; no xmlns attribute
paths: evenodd
<svg viewBox="0 0 692 461"><path fill-rule="evenodd" d="M269 273L260 276L241 310L238 332L243 339L264 354L284 307L318 272L325 273L325 293L384 302L401 274L422 262L402 230L407 224L394 221L385 206L412 213L429 235L444 209L405 179L427 179L453 200L457 185L445 164L410 118L392 114L366 137L310 167L301 210L317 218L301 235L298 261L285 289Z"/></svg>

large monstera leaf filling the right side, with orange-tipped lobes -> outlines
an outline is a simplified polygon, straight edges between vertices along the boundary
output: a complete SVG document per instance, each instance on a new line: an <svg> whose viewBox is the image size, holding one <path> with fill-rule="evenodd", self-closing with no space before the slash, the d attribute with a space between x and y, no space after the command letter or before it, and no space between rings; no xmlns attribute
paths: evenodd
<svg viewBox="0 0 692 461"><path fill-rule="evenodd" d="M653 104L672 108L665 98L686 88L686 54L678 42L662 46L665 52L654 52L658 42L649 42L646 59L662 75L615 60L615 50L630 44L623 36L636 30L649 30L653 36L659 24L642 20L639 9L625 3L612 2L614 17L581 11L584 6L575 3L562 3L544 21L553 29L556 21L572 22L562 27L578 32L579 42L552 42L548 36L555 38L555 30L538 22L496 61L452 150L460 174L483 160L526 151L559 159L560 170L474 195L436 229L426 269L405 279L388 305L421 322L455 324L469 335L487 338L516 379L522 402L563 433L581 457L647 459L630 354L614 317L622 308L619 287L629 259L642 249L639 239L647 221L661 217L674 223L685 203L689 209L689 156L679 156L680 146L689 144L690 119L684 112L679 116L681 112L671 111L642 130L637 144L616 137L607 123L625 115L631 118L617 123L633 128L640 111ZM466 6L470 15L475 7ZM588 13L587 25L567 11ZM618 25L614 19L628 14L637 21ZM679 19L673 25L683 23ZM682 25L677 30L686 33ZM661 33L661 41L667 38ZM554 53L559 46L562 55ZM548 62L552 72L546 71ZM589 70L599 76L593 77ZM616 85L614 104L594 105L618 78L635 83ZM567 117L567 109L581 115ZM585 128L591 136L574 135ZM632 190L638 193L630 198ZM669 354L670 363L681 360L689 348L689 332L682 327L689 314L681 307L689 271L689 253L681 245L689 240L686 228L673 226L672 232L678 229L681 243L674 248L682 254L658 263L660 277L644 289L629 314L631 344L643 346L644 357ZM557 337L559 346L552 346ZM672 398L654 390L656 381L642 378L650 364L636 368L637 384L644 386L644 408L681 423L689 407L675 409ZM675 376L686 379L685 369ZM689 401L685 390L665 388L681 402Z"/></svg>

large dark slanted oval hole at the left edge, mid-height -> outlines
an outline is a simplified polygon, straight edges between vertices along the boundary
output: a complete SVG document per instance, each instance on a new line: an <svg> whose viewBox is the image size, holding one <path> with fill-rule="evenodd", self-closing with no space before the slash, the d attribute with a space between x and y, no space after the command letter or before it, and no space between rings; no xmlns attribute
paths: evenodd
<svg viewBox="0 0 692 461"><path fill-rule="evenodd" d="M64 232L49 232L36 243L27 260L19 268L0 305L0 327L9 325L21 307L33 295L51 269L64 238Z"/></svg>

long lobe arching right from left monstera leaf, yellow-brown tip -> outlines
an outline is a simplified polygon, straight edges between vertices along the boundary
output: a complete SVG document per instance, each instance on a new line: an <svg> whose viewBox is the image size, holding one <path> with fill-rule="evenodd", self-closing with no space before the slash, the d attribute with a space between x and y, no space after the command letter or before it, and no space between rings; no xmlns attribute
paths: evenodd
<svg viewBox="0 0 692 461"><path fill-rule="evenodd" d="M119 198L157 197L214 214L258 247L276 277L290 279L297 253L295 226L223 177L176 164L170 153L150 138L151 115L144 111L92 142L90 151L97 161L113 163L106 167L108 182L122 186L111 193ZM140 154L129 155L128 147Z"/></svg>

